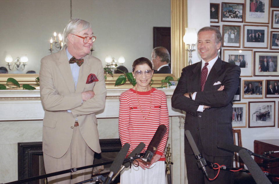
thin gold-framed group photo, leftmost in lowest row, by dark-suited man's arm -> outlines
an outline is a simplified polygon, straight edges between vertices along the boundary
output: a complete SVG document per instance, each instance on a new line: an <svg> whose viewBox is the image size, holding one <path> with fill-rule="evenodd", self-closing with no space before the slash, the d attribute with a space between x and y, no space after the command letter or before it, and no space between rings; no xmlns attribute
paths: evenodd
<svg viewBox="0 0 279 184"><path fill-rule="evenodd" d="M232 104L232 127L246 128L247 126L247 103Z"/></svg>

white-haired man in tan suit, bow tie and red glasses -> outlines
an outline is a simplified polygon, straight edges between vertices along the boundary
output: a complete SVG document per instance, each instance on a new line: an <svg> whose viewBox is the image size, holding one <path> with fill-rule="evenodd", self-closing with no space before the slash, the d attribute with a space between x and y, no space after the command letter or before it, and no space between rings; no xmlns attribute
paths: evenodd
<svg viewBox="0 0 279 184"><path fill-rule="evenodd" d="M96 37L89 22L72 19L64 48L41 60L40 92L45 110L43 153L47 173L92 165L100 153L95 113L105 106L102 63L88 55ZM91 178L92 168L48 178L49 183L77 183Z"/></svg>

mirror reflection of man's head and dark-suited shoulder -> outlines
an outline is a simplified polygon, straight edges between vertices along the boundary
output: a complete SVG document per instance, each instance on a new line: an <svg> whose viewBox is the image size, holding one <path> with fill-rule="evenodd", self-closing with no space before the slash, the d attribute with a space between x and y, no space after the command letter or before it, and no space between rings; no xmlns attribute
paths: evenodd
<svg viewBox="0 0 279 184"><path fill-rule="evenodd" d="M171 68L169 62L171 58L169 51L164 47L156 47L152 50L151 61L153 63L153 70L157 70L154 74L170 74Z"/></svg>

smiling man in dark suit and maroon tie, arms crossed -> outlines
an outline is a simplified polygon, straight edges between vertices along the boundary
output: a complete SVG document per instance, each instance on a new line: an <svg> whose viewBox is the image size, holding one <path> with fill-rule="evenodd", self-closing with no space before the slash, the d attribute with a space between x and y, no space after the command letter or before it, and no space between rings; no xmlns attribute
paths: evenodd
<svg viewBox="0 0 279 184"><path fill-rule="evenodd" d="M215 28L204 27L198 31L197 50L202 60L182 69L171 105L186 112L185 130L191 132L203 157L232 167L233 153L218 149L217 143L233 145L232 100L237 92L240 68L218 57L221 41L221 33ZM189 184L233 183L232 173L222 170L214 181L206 179L198 169L186 137L185 161ZM207 172L209 178L214 178L218 171L208 168Z"/></svg>

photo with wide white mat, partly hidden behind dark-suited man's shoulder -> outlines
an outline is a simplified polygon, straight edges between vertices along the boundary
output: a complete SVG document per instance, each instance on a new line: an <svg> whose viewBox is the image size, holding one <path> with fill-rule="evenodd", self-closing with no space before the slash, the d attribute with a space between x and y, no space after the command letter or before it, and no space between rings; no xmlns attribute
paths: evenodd
<svg viewBox="0 0 279 184"><path fill-rule="evenodd" d="M241 77L253 76L253 50L224 49L223 60L238 65Z"/></svg>

